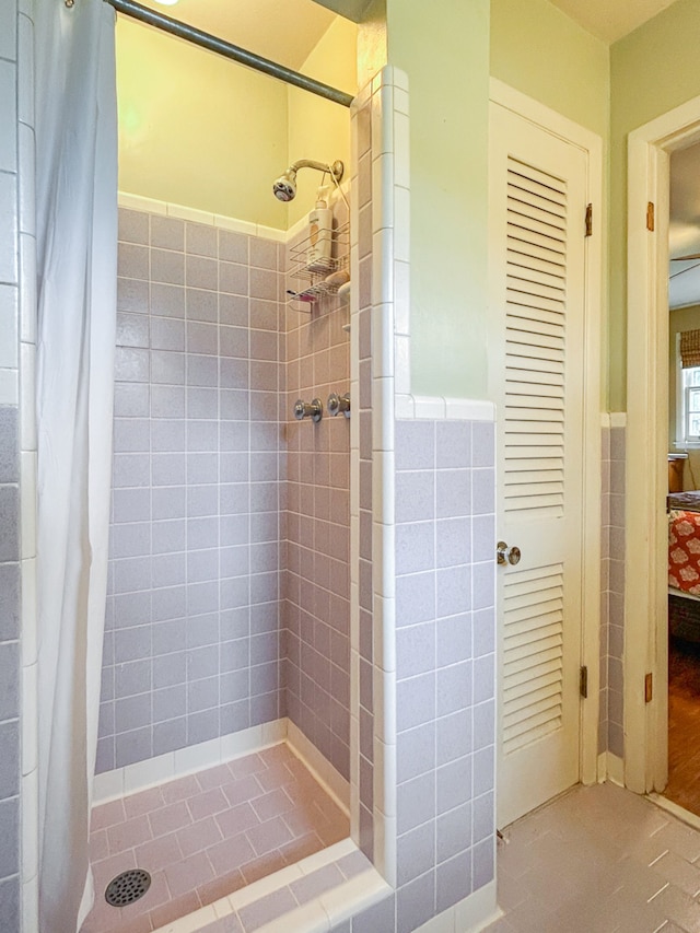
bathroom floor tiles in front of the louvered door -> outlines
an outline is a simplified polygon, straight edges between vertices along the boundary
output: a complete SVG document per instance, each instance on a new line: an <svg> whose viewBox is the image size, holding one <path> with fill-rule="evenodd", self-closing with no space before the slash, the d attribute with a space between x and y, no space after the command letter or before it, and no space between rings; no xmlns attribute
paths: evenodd
<svg viewBox="0 0 700 933"><path fill-rule="evenodd" d="M645 797L579 785L503 836L485 933L700 931L700 831Z"/></svg>

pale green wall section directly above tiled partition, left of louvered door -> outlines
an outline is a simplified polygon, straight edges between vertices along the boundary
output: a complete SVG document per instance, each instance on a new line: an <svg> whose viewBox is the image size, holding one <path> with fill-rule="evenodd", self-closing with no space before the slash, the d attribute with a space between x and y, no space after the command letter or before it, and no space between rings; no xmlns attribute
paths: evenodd
<svg viewBox="0 0 700 933"><path fill-rule="evenodd" d="M411 386L487 390L488 0L387 0L411 107Z"/></svg>

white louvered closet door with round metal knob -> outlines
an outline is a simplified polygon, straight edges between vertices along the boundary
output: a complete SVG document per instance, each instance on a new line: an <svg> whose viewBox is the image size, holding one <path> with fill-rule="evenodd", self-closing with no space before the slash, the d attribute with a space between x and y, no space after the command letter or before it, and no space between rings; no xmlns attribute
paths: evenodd
<svg viewBox="0 0 700 933"><path fill-rule="evenodd" d="M580 773L587 156L491 105L491 390L497 533L498 824Z"/></svg>

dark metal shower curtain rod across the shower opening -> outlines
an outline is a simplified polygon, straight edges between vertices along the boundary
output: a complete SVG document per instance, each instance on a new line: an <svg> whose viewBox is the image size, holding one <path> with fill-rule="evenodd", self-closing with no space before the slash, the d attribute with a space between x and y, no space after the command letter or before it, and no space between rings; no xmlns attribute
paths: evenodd
<svg viewBox="0 0 700 933"><path fill-rule="evenodd" d="M322 81L306 78L306 75L300 74L298 71L292 71L291 68L285 68L276 61L270 61L269 58L262 58L260 55L247 51L218 36L212 36L210 33L205 33L201 30L195 28L195 26L189 26L187 23L180 23L179 20L164 16L162 13L149 10L133 0L105 0L105 2L114 7L118 13L132 16L135 20L140 20L149 26L155 26L156 30L163 30L163 32L170 33L173 36L209 49L209 51L219 53L224 58L230 58L241 65L247 65L248 68L255 68L256 71L262 71L265 74L270 74L272 78L278 78L280 81L285 81L288 84L293 84L303 91L311 91L312 94L317 94L327 101L342 104L343 107L349 107L352 103L352 95L346 94L345 91L338 91L337 88L331 88Z"/></svg>

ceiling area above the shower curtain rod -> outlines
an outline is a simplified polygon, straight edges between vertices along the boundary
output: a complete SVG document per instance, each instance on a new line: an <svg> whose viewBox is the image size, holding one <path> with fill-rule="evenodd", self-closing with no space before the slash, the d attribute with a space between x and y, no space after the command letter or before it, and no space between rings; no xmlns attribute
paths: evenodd
<svg viewBox="0 0 700 933"><path fill-rule="evenodd" d="M336 16L313 0L179 0L175 5L156 0L139 2L295 71Z"/></svg>

